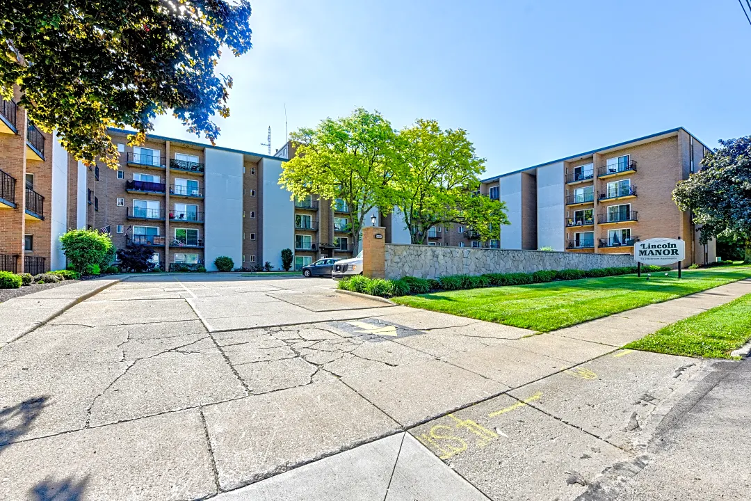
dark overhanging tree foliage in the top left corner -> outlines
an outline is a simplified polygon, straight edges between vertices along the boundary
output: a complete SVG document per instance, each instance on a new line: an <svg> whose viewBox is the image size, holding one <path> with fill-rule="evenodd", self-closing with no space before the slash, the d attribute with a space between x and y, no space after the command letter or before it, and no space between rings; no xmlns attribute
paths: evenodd
<svg viewBox="0 0 751 501"><path fill-rule="evenodd" d="M138 143L167 110L213 142L232 86L220 47L250 49L250 14L247 0L3 0L0 95L18 86L29 119L87 163L115 167L107 128Z"/></svg>

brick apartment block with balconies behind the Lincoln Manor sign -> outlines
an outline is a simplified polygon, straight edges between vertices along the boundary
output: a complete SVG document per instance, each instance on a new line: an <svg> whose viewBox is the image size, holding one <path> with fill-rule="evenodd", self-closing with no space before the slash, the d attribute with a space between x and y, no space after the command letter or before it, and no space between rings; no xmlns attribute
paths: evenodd
<svg viewBox="0 0 751 501"><path fill-rule="evenodd" d="M507 206L502 249L633 254L637 240L670 237L686 240L684 265L706 263L715 243L699 243L672 191L702 168L707 149L674 128L491 177L481 193Z"/></svg>

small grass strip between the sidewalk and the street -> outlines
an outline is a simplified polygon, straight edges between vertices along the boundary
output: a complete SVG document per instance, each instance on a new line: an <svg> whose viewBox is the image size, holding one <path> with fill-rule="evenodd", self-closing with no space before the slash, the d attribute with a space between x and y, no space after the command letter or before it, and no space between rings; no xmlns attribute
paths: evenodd
<svg viewBox="0 0 751 501"><path fill-rule="evenodd" d="M689 357L730 358L751 339L751 294L677 321L626 348Z"/></svg>

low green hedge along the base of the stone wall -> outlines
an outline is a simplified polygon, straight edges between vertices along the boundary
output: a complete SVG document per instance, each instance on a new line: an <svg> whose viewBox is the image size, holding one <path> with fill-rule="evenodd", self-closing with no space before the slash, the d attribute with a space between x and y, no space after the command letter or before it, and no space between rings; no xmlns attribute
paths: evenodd
<svg viewBox="0 0 751 501"><path fill-rule="evenodd" d="M670 271L666 266L642 266L642 273ZM398 280L369 279L356 275L339 282L345 291L361 292L379 297L428 294L432 291L460 291L471 288L502 287L553 282L554 280L578 280L636 273L635 266L597 268L595 270L541 270L535 273L484 273L483 275L447 275L439 279L421 279L403 276Z"/></svg>

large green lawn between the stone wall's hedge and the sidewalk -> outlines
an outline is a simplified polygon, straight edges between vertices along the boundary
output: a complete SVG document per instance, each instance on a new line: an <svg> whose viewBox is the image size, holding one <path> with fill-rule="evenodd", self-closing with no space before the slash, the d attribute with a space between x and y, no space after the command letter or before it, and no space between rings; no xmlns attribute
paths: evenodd
<svg viewBox="0 0 751 501"><path fill-rule="evenodd" d="M547 332L626 309L660 303L751 276L751 268L687 270L608 276L534 285L477 288L395 297L394 302L415 308L493 321Z"/></svg>

